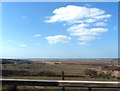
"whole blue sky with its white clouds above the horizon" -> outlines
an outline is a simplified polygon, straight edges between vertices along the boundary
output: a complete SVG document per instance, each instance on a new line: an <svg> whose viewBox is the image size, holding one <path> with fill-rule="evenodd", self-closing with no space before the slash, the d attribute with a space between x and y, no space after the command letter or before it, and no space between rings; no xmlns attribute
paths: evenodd
<svg viewBox="0 0 120 91"><path fill-rule="evenodd" d="M2 3L3 58L117 58L117 2Z"/></svg>

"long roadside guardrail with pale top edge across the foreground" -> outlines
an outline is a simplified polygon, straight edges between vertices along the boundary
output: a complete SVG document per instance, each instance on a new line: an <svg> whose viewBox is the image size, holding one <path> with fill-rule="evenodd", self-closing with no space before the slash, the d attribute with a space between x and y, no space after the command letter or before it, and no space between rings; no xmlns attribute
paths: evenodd
<svg viewBox="0 0 120 91"><path fill-rule="evenodd" d="M16 86L57 86L89 88L120 88L117 81L69 81L69 80L29 80L29 79L0 79L3 85Z"/></svg>

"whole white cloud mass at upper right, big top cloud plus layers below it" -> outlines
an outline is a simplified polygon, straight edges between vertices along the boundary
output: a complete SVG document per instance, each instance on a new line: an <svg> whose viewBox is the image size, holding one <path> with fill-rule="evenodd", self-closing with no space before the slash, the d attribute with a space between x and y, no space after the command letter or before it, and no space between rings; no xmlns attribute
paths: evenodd
<svg viewBox="0 0 120 91"><path fill-rule="evenodd" d="M53 14L45 22L68 24L67 32L71 36L78 36L80 45L97 39L101 33L108 31L106 22L111 17L102 9L75 5L57 8Z"/></svg>

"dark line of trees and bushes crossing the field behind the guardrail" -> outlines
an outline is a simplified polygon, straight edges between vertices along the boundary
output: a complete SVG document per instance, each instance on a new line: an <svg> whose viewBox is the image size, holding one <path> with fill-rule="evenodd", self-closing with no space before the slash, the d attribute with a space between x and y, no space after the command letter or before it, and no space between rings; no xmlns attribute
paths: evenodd
<svg viewBox="0 0 120 91"><path fill-rule="evenodd" d="M91 77L91 78L107 78L111 77L110 72L97 72L94 69L85 69L85 75L64 75L65 77ZM30 72L30 71L20 71L20 70L2 70L2 76L48 76L48 77L61 77L61 73L55 73L52 71L40 71L40 72Z"/></svg>

